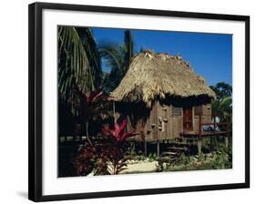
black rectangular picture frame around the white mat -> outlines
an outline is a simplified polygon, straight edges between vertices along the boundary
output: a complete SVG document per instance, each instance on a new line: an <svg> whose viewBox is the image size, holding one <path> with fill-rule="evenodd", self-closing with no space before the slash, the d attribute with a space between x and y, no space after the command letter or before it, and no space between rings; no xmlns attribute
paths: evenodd
<svg viewBox="0 0 256 204"><path fill-rule="evenodd" d="M207 186L189 186L161 189L132 189L64 195L42 195L42 12L44 9L68 11L90 11L128 15L176 16L201 19L218 19L245 22L245 182ZM188 191L243 189L250 188L250 16L219 15L167 10L148 10L125 7L94 5L67 5L34 3L29 5L28 17L28 54L29 54L29 141L28 141L28 199L34 201L91 199L105 197L135 196L147 194L176 193Z"/></svg>

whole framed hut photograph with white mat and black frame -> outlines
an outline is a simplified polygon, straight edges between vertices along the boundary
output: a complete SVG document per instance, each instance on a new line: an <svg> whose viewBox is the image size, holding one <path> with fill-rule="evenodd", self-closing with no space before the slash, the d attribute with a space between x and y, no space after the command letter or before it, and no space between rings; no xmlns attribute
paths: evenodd
<svg viewBox="0 0 256 204"><path fill-rule="evenodd" d="M29 5L29 199L250 187L250 17Z"/></svg>

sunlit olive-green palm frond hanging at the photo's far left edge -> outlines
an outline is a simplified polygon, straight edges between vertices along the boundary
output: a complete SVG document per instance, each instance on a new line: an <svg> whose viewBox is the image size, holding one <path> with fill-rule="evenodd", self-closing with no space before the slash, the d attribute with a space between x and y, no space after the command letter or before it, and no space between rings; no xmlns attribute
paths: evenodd
<svg viewBox="0 0 256 204"><path fill-rule="evenodd" d="M84 92L94 90L94 78L89 65L89 56L76 28L60 26L58 42L59 52L62 52L63 55L59 56L60 63L58 66L60 95L67 97L67 90L71 87L79 87Z"/></svg>

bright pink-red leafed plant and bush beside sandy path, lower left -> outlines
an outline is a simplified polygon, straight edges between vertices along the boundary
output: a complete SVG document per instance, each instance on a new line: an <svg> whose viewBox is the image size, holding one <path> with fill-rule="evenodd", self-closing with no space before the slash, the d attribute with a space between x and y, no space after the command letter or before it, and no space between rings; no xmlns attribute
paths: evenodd
<svg viewBox="0 0 256 204"><path fill-rule="evenodd" d="M115 128L103 128L102 134L106 139L100 140L94 146L84 146L75 159L78 175L86 176L94 169L95 175L119 174L127 168L126 156L128 137L136 135L134 130L125 133L127 120Z"/></svg>

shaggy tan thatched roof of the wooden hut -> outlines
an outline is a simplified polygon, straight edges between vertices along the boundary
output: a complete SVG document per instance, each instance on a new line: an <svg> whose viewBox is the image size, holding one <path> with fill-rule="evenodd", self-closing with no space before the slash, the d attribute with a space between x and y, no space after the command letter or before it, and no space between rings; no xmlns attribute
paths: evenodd
<svg viewBox="0 0 256 204"><path fill-rule="evenodd" d="M146 50L134 57L126 76L110 96L122 102L142 100L150 107L157 97L215 97L215 93L181 56Z"/></svg>

